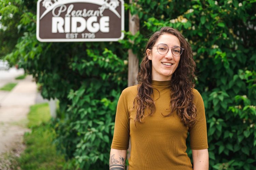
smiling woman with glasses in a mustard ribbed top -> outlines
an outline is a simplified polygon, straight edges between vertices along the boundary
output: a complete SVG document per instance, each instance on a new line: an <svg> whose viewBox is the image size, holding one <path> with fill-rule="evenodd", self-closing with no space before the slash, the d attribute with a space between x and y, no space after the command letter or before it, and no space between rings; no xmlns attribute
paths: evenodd
<svg viewBox="0 0 256 170"><path fill-rule="evenodd" d="M148 40L137 86L120 95L110 169L206 170L209 167L203 100L194 87L195 62L184 36L163 27ZM193 168L186 153L190 133Z"/></svg>

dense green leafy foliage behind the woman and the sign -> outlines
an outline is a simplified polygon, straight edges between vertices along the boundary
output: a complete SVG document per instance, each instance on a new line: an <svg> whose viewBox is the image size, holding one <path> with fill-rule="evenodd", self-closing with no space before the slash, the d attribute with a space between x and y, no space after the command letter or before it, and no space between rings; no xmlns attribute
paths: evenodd
<svg viewBox="0 0 256 170"><path fill-rule="evenodd" d="M127 51L141 59L147 38L170 26L194 51L210 169L255 169L256 0L125 1L124 40L97 43L38 42L36 2L0 1L0 57L32 74L43 97L60 101L55 142L77 168L108 169L116 105L127 87ZM136 35L128 32L128 10L140 18Z"/></svg>

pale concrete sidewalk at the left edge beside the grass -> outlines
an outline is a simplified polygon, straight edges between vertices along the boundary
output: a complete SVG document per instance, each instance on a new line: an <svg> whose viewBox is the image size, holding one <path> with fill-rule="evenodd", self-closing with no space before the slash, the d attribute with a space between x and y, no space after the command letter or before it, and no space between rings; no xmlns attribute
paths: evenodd
<svg viewBox="0 0 256 170"><path fill-rule="evenodd" d="M22 145L26 128L27 114L35 104L37 85L32 76L27 76L11 92L0 91L0 154L17 150Z"/></svg>

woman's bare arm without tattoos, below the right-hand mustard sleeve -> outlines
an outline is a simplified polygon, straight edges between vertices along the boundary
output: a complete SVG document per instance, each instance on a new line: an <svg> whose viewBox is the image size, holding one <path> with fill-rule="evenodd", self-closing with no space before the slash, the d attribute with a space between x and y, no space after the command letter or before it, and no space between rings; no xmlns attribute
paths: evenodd
<svg viewBox="0 0 256 170"><path fill-rule="evenodd" d="M208 149L192 150L192 156L193 156L193 170L209 169Z"/></svg>

